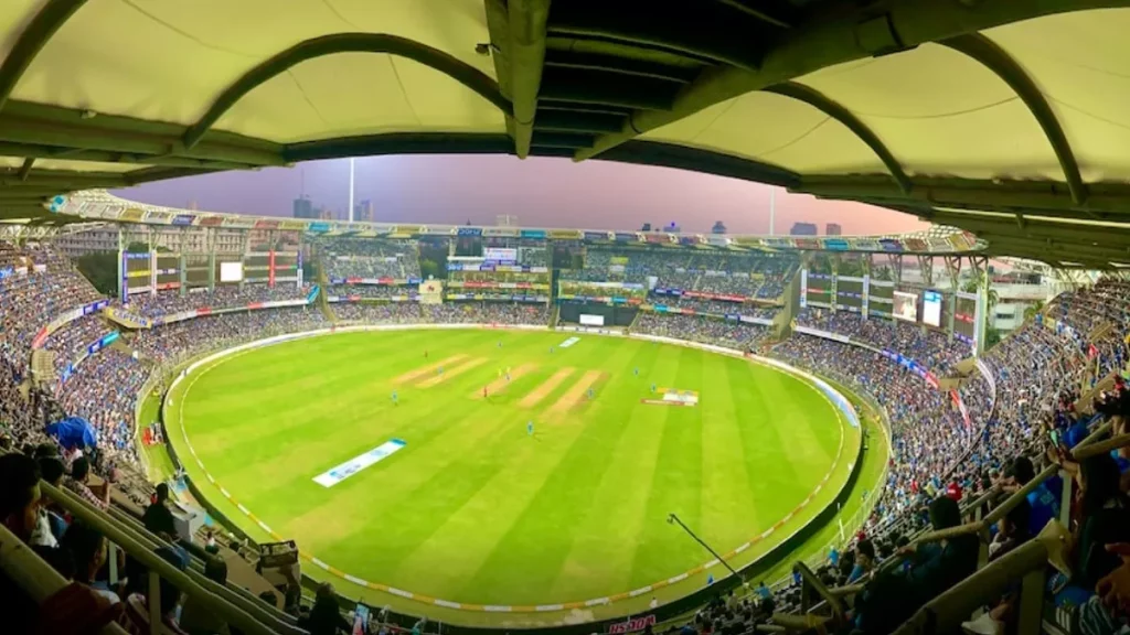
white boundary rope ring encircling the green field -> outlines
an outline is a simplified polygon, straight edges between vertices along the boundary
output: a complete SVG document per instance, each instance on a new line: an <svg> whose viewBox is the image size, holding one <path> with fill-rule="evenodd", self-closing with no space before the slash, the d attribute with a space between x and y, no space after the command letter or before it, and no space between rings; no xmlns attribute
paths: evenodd
<svg viewBox="0 0 1130 635"><path fill-rule="evenodd" d="M189 365L188 368L185 368L183 372L181 372L176 376L175 380L173 380L173 383L169 385L168 391L167 391L166 394L173 394L174 391L180 385L181 380L186 379L189 375L193 375L192 380L189 382L188 386L184 389L183 394L180 395L181 397L181 401L180 401L180 405L177 407L177 420L179 420L179 425L181 427L181 436L184 440L185 446L189 449L189 453L192 454L193 460L195 461L197 466L200 468L200 470L205 475L205 477L208 479L208 481L210 484L212 484L215 487L217 487L217 489L219 489L220 494L223 494L228 499L228 502L231 502L233 505L235 505L236 508L241 513L245 514L257 525L263 528L264 531L267 531L271 536L271 538L273 538L276 540L285 540L285 538L282 538L278 533L276 533L276 532L270 531L269 529L267 529L267 525L262 521L260 521L251 511L249 511L245 506L243 506L234 497L232 497L231 493L228 493L226 489L224 489L219 485L219 482L211 476L211 473L208 472L208 469L205 467L203 461L201 461L197 456L197 452L192 447L192 443L189 441L188 429L186 429L186 427L184 425L184 402L186 400L186 397L188 397L189 392L192 391L192 386L195 385L197 381L199 381L201 377L203 377L206 374L208 374L209 371L212 371L214 368L219 367L223 363L229 362L232 359L236 359L238 357L242 357L243 355L252 353L253 350L255 350L258 348L273 346L273 345L282 343L282 342L287 342L287 341L296 341L296 340L301 340L301 339L308 339L308 338L313 338L313 337L321 337L321 336L329 336L329 334L337 334L337 333L346 333L346 332L402 331L402 330L426 330L426 329L442 329L442 330L453 330L453 329L545 330L545 327L542 327L542 325L531 325L531 324L513 324L513 325L495 325L495 324L423 324L423 325L421 324L390 324L390 325L355 325L355 327L342 327L340 329L338 329L338 328L320 329L320 330L316 330L316 331L305 331L305 332L292 333L292 334L287 334L287 336L276 336L276 337L264 338L264 339L257 340L257 341L253 341L253 342L247 342L247 343L244 343L244 345L240 345L240 346L236 346L236 347L233 347L233 348L228 348L228 349L225 349L225 350L220 350L220 351L217 351L217 353L215 353L212 355L209 355L209 356L207 356L207 357L205 357L202 359L199 359L199 360L192 363L191 365ZM567 329L560 329L560 328L558 328L557 330L558 331L565 330L566 332L568 332ZM586 332L589 334L598 334L598 336L625 337L621 333L617 333L617 332L614 332L614 331L605 331L603 329L600 329L599 331L598 330L591 330L591 331L589 331L589 330L576 330L576 331L577 332ZM784 373L786 373L789 375L794 376L796 379L800 380L802 383L806 383L807 385L809 385L809 388L812 388L814 390L816 390L816 392L819 393L820 397L823 397L824 400L828 402L828 405L832 407L833 411L836 414L836 419L840 423L840 447L836 450L836 458L832 462L832 467L828 469L828 472L826 475L824 475L824 478L820 479L820 482L817 484L816 488L808 495L807 498L805 498L805 501L800 505L797 506L797 508L794 508L786 516L784 516L783 519L779 520L772 527L770 527L768 529L766 529L765 531L763 531L760 534L754 537L753 539L746 541L745 543L740 545L739 547L732 549L730 553L723 555L723 558L730 558L730 557L732 557L732 556L734 556L737 554L740 554L741 551L745 551L746 549L748 549L749 547L754 546L755 543L760 542L762 540L765 540L766 538L768 538L770 536L772 536L773 533L775 533L776 530L781 529L784 524L786 524L790 520L792 520L801 510L803 510L806 506L808 506L808 504L824 488L824 486L832 478L832 475L840 467L840 462L841 462L841 459L843 456L844 442L845 442L845 438L847 436L846 435L846 430L844 428L844 424L846 423L844 420L845 419L845 417L844 417L844 410L846 410L847 412L850 412L851 417L854 419L855 424L854 424L853 427L859 427L859 418L858 418L858 415L855 414L854 408L851 406L851 403L846 399L844 399L844 397L842 394L840 394L838 391L836 391L835 389L833 389L824 380L822 380L819 377L816 377L816 376L814 376L814 375L811 375L809 373L806 373L806 372L803 372L803 371L801 371L799 368L796 368L793 366L784 364L782 362L777 362L776 359L770 359L767 357L760 357L760 356L757 356L757 355L748 355L747 356L746 354L744 354L744 353L741 353L739 350L734 350L734 349L729 349L729 348L723 348L723 347L712 346L712 345L704 345L704 343L698 343L698 342L692 342L692 341L685 341L685 340L677 340L677 339L673 339L673 338L663 338L663 337L658 337L658 336L646 336L646 334L635 334L635 333L632 333L632 334L629 334L627 337L629 337L632 339L653 341L653 342L657 342L657 343L668 343L668 345L675 345L675 346L683 346L683 347L687 347L687 348L696 348L696 349L705 350L705 351L709 351L709 353L716 353L716 354L728 355L730 357L739 357L739 358L742 358L742 359L748 359L749 362L753 362L755 364L760 364L763 366L771 366L774 369L782 371L782 372L784 372ZM211 364L212 362L216 362L216 364ZM201 368L202 366L206 366L206 365L208 365L208 366L205 367L199 373L195 373L195 371L198 368ZM842 401L843 408L841 408L840 406L837 406L832 400L832 398L829 397L829 393L836 395ZM166 399L162 403L162 410L165 411L166 415L167 415L167 406L168 406L168 401ZM860 443L862 443L862 436L860 437ZM845 481L845 485L846 485L846 481ZM798 532L800 532L801 530L803 530L805 527L807 527L807 523L805 525L802 525L802 527L797 528L796 531L793 531L790 536L785 537L784 541L788 541L790 538L792 538ZM782 541L782 543L784 541ZM638 597L641 594L649 593L651 591L654 591L657 589L661 589L663 586L668 586L670 584L675 584L675 583L681 582L681 581L687 580L688 577L690 577L693 575L697 575L697 574L699 574L699 573L702 573L702 572L704 572L704 571L706 571L709 568L712 568L715 565L720 564L720 562L718 559L712 559L712 560L710 560L707 563L704 563L704 564L702 564L702 565L699 565L697 567L694 567L694 568L692 568L692 569L689 569L687 572L684 572L681 574L671 576L671 577L669 577L667 580L661 580L659 582L649 584L646 586L642 586L640 589L634 589L632 591L625 591L625 592L621 592L621 593L616 593L614 595L609 595L609 597L606 597L606 598L596 598L596 599L591 599L591 600L583 600L583 601L575 601L575 602L565 602L565 603L559 603L559 604L496 606L496 604L470 604L470 603L462 603L462 602L452 602L450 600L443 600L441 598L432 598L429 595L424 595L424 594L419 594L419 593L412 593L410 591L403 591L403 590L397 589L394 586L389 586L388 584L382 584L382 583L379 583L379 582L370 582L370 581L366 581L366 580L362 580L359 577L355 577L353 575L349 575L349 574L347 574L347 573L345 573L345 572L342 572L340 569L337 569L337 568L330 566L329 564L324 563L323 560L318 559L316 557L310 556L307 554L303 554L302 551L299 551L299 555L304 559L308 560L311 564L318 566L319 568L324 569L325 572L328 572L328 573L330 573L330 574L332 574L332 575L334 575L337 577L340 577L342 580L346 580L348 582L351 582L351 583L354 583L354 584L356 584L358 586L365 586L367 589L373 589L373 590L376 590L376 591L383 591L383 592L392 593L393 595L399 595L401 598L406 598L406 599L409 599L409 600L415 600L415 601L419 601L419 602L431 603L431 604L435 604L435 606L441 606L441 607L446 607L446 608L452 608L452 609L460 609L460 610L468 610L468 611L486 611L486 612L542 612L542 611L553 611L553 610L573 610L573 609L577 609L577 608L593 607L593 606L598 606L598 604L610 604L610 603L614 603L614 602L617 602L617 601L620 601L620 600L625 600L625 599L629 599L629 598L635 598L635 597ZM749 565L751 565L751 564L754 564L756 562L757 562L757 559L755 559L755 560L746 564L745 566L749 566ZM719 580L724 580L725 577L729 577L730 575L731 574L729 572L727 572L727 574L723 575L723 576L721 576ZM703 586L703 588L705 588L705 586ZM693 592L694 591L688 592L687 594L690 594Z"/></svg>

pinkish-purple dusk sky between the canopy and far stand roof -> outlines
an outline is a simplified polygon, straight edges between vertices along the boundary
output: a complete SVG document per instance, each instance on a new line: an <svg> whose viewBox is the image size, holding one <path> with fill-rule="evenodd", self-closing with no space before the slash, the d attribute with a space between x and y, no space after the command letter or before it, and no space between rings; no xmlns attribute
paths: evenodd
<svg viewBox="0 0 1130 635"><path fill-rule="evenodd" d="M681 169L590 160L512 156L407 155L357 159L356 200L373 201L377 220L493 225L511 214L527 226L638 229L678 223L706 232L715 220L731 233L767 233L770 186ZM133 200L206 211L290 216L305 188L315 206L345 210L346 159L293 168L228 172L149 183L115 192ZM859 203L776 195L776 232L794 221L838 223L845 234L925 227L912 216Z"/></svg>

